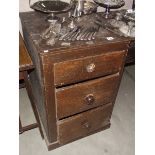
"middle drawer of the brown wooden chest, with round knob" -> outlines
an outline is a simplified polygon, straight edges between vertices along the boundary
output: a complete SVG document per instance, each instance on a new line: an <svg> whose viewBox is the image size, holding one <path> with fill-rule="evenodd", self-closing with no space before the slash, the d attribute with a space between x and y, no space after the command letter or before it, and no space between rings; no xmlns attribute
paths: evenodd
<svg viewBox="0 0 155 155"><path fill-rule="evenodd" d="M113 102L118 82L117 73L56 90L58 119Z"/></svg>

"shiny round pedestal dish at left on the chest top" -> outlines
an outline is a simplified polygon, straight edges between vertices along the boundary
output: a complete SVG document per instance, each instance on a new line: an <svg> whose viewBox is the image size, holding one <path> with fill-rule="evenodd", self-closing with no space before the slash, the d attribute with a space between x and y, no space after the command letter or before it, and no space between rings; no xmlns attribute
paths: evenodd
<svg viewBox="0 0 155 155"><path fill-rule="evenodd" d="M55 14L69 11L73 6L73 0L66 2L66 0L29 0L30 8L49 13L47 20L49 22L59 20Z"/></svg>

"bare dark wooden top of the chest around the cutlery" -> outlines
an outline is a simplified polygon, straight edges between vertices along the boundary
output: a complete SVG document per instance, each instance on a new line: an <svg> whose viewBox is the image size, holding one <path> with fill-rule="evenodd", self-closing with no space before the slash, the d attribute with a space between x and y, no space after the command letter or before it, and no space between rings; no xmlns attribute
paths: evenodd
<svg viewBox="0 0 155 155"><path fill-rule="evenodd" d="M60 14L59 16L67 16L66 14ZM20 19L22 28L28 35L29 39L33 42L37 52L39 53L55 53L60 51L67 51L71 49L91 48L102 45L112 45L115 43L126 43L130 41L130 38L119 36L105 28L100 28L96 34L95 40L92 41L73 41L65 42L58 40L53 46L47 44L47 40L42 39L42 33L49 27L49 22L46 21L47 14L40 12L23 12L20 13ZM112 38L112 40L110 39ZM69 46L66 46L66 44Z"/></svg>

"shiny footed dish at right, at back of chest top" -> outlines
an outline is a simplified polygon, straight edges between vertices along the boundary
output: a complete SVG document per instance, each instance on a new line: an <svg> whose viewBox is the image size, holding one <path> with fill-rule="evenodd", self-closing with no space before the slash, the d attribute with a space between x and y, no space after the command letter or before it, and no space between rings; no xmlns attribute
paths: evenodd
<svg viewBox="0 0 155 155"><path fill-rule="evenodd" d="M106 8L105 18L109 18L110 9L118 9L125 5L123 0L94 0L94 2Z"/></svg>

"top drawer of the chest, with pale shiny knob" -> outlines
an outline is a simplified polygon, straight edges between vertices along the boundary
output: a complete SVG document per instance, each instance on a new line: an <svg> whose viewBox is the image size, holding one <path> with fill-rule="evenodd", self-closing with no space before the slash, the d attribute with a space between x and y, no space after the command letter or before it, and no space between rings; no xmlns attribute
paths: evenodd
<svg viewBox="0 0 155 155"><path fill-rule="evenodd" d="M54 64L55 86L67 85L91 78L116 73L121 69L124 51Z"/></svg>

